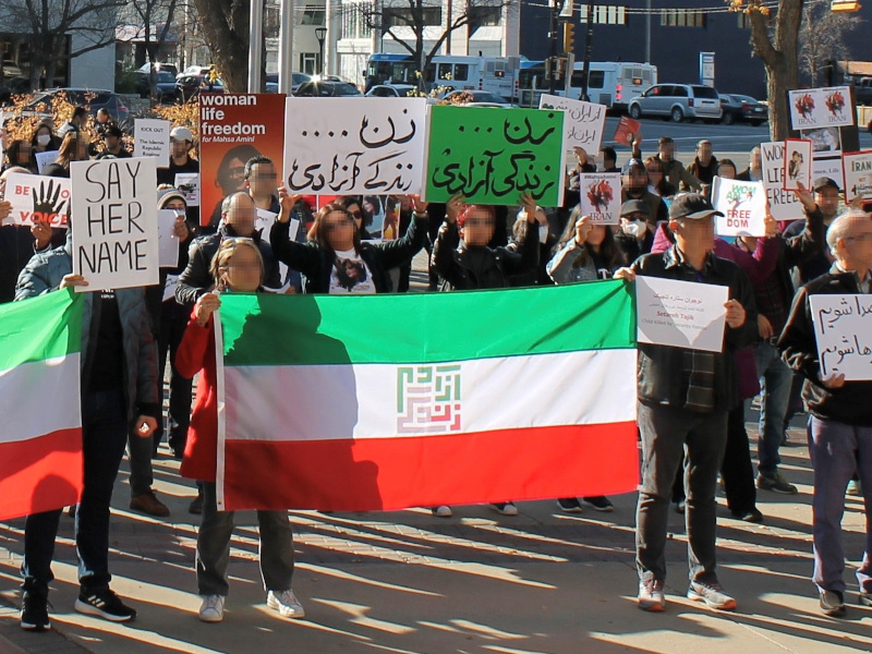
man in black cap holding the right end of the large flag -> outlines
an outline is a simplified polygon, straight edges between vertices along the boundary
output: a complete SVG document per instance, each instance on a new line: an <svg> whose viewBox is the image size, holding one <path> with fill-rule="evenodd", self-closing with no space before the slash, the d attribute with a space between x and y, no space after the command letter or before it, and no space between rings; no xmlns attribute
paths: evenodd
<svg viewBox="0 0 872 654"><path fill-rule="evenodd" d="M710 608L736 608L736 600L724 592L715 571L715 487L726 446L727 415L739 401L735 351L753 344L756 307L748 276L712 252L714 217L718 215L698 193L676 196L669 208L675 244L665 252L643 255L615 274L628 280L659 277L729 289L720 351L639 343L638 423L643 462L635 561L639 608L643 610L659 611L666 606L669 498L686 448L688 597ZM693 292L690 287L689 292Z"/></svg>

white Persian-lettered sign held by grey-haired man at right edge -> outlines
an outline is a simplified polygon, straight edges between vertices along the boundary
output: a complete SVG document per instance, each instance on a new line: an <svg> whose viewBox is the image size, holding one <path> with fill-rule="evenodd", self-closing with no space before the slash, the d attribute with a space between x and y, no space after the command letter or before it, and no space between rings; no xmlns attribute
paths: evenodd
<svg viewBox="0 0 872 654"><path fill-rule="evenodd" d="M821 375L872 380L872 295L809 295Z"/></svg>

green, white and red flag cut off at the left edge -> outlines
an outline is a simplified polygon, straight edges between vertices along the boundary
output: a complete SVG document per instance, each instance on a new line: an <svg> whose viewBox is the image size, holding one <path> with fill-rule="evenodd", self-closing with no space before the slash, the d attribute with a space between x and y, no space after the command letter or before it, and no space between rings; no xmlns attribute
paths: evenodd
<svg viewBox="0 0 872 654"><path fill-rule="evenodd" d="M57 291L0 306L0 520L78 501L83 303Z"/></svg>

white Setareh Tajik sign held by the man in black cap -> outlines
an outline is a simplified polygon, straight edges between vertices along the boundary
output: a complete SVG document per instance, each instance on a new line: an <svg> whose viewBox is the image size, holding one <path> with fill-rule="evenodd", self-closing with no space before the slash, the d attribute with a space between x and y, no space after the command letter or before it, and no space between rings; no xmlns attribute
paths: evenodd
<svg viewBox="0 0 872 654"><path fill-rule="evenodd" d="M637 340L720 352L729 287L635 278Z"/></svg>

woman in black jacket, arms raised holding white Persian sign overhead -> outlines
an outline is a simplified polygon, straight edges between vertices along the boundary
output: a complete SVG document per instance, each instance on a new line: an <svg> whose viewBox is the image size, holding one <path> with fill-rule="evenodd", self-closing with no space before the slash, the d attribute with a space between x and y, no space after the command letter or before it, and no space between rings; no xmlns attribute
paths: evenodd
<svg viewBox="0 0 872 654"><path fill-rule="evenodd" d="M308 243L289 238L291 207L298 197L279 191L281 214L269 232L278 261L300 270L306 293L389 293L388 270L411 259L427 238L427 203L413 196L414 220L395 241L361 241L354 217L340 203L320 208L308 232Z"/></svg>

